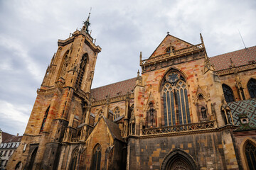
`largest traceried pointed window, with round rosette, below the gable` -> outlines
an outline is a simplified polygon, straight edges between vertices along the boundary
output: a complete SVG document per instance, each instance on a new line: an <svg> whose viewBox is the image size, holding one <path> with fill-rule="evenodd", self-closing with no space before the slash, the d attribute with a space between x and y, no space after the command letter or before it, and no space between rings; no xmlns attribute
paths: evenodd
<svg viewBox="0 0 256 170"><path fill-rule="evenodd" d="M164 124L166 126L191 123L186 80L178 72L166 75L162 88Z"/></svg>

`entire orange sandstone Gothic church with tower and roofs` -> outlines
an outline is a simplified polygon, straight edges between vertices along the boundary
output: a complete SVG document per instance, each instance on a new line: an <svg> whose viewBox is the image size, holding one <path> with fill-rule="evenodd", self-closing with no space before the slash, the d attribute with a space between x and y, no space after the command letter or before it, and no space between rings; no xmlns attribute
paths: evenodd
<svg viewBox="0 0 256 170"><path fill-rule="evenodd" d="M7 169L255 169L256 46L208 57L168 34L137 77L91 89L88 26L58 40Z"/></svg>

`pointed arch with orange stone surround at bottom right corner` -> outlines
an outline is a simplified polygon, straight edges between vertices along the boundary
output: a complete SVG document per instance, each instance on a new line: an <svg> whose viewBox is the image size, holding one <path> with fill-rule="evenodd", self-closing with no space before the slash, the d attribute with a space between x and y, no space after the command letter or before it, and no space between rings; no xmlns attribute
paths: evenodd
<svg viewBox="0 0 256 170"><path fill-rule="evenodd" d="M255 169L256 167L256 141L246 137L240 145L242 165L245 169Z"/></svg>

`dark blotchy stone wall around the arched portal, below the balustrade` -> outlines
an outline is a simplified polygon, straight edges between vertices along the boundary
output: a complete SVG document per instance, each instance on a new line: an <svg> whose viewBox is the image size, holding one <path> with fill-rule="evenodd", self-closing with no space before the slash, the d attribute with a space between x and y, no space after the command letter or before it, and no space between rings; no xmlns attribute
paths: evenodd
<svg viewBox="0 0 256 170"><path fill-rule="evenodd" d="M193 157L198 169L238 169L229 132L129 139L129 169L161 169L166 155L181 149ZM230 155L230 156L228 156Z"/></svg>

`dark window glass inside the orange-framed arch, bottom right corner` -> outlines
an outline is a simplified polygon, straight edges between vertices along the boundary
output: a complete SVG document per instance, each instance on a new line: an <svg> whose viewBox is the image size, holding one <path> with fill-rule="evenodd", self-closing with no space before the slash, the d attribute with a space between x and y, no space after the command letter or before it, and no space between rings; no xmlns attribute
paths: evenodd
<svg viewBox="0 0 256 170"><path fill-rule="evenodd" d="M248 140L245 145L245 157L247 161L247 167L249 169L255 169L256 167L256 147L253 143Z"/></svg>

